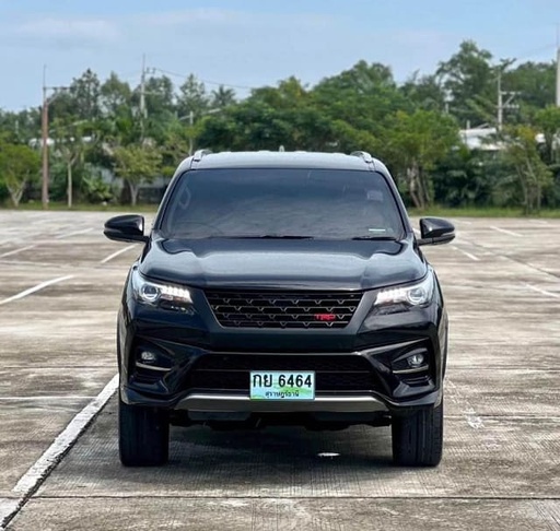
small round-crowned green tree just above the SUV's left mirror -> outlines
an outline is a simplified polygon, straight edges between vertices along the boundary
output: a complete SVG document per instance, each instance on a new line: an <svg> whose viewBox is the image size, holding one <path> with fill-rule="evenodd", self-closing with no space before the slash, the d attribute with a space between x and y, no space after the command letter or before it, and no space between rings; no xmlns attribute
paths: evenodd
<svg viewBox="0 0 560 531"><path fill-rule="evenodd" d="M152 182L160 174L162 155L149 144L121 145L115 149L115 173L130 190L130 204L136 205L142 182Z"/></svg>

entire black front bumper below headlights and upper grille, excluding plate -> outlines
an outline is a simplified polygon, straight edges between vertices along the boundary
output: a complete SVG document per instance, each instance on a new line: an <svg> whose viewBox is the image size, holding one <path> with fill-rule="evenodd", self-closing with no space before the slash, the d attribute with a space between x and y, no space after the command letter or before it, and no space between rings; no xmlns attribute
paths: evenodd
<svg viewBox="0 0 560 531"><path fill-rule="evenodd" d="M180 316L140 305L125 293L119 312L120 394L129 404L217 413L406 414L440 403L447 317L440 297L427 308L366 319L363 308L342 330L267 331L219 327L201 311ZM142 361L143 352L154 361ZM427 369L407 356L422 353ZM314 371L314 400L249 398L253 370Z"/></svg>

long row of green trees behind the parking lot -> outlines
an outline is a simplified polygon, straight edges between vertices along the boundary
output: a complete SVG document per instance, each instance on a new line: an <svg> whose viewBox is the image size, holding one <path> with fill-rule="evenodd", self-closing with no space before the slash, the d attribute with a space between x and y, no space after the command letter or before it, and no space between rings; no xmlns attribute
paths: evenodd
<svg viewBox="0 0 560 531"><path fill-rule="evenodd" d="M359 61L306 86L295 78L209 91L194 74L176 86L152 72L131 86L86 70L49 104L50 198L136 204L140 186L170 177L199 148L213 151L369 151L394 174L409 205L560 204L560 109L556 64L495 61L476 43L427 75L398 84L388 66ZM501 107L501 108L500 108ZM0 201L36 197L40 107L0 109ZM492 132L468 149L459 131ZM491 129L494 128L494 129ZM126 184L124 193L104 175Z"/></svg>

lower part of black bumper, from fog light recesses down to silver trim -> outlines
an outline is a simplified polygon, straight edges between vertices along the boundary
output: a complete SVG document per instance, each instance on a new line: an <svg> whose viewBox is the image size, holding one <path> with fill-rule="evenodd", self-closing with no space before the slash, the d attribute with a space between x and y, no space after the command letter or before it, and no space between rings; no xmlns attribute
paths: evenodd
<svg viewBox="0 0 560 531"><path fill-rule="evenodd" d="M436 405L441 398L441 354L425 339L351 353L212 352L145 338L136 338L135 343L120 387L122 400L130 404L189 412L398 414ZM143 350L156 353L166 367L138 362ZM429 356L427 371L392 370L393 359L419 350ZM252 369L314 370L315 399L252 400Z"/></svg>

